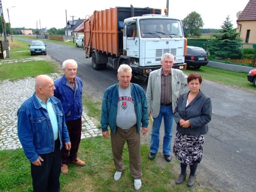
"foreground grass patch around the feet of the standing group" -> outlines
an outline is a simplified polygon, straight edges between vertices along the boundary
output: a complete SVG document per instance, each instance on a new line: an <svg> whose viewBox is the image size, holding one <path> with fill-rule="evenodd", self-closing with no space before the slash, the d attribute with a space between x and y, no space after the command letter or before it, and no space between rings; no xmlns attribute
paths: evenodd
<svg viewBox="0 0 256 192"><path fill-rule="evenodd" d="M81 140L78 156L86 162L85 166L69 164L69 173L60 175L61 192L130 192L134 191L133 178L129 170L128 148L124 146L124 165L126 170L118 182L114 181L114 163L110 139L101 136ZM148 145L141 146L142 154L142 188L141 192L184 192L210 191L186 186L186 182L176 185L174 163L163 163L158 166L157 160L148 159ZM30 162L22 149L0 151L0 191L32 192Z"/></svg>

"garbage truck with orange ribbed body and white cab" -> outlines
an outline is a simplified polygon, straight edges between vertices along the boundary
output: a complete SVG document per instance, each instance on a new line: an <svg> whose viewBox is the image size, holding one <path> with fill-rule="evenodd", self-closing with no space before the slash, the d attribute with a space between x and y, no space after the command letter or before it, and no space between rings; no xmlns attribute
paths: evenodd
<svg viewBox="0 0 256 192"><path fill-rule="evenodd" d="M128 64L133 77L146 80L167 52L174 55L173 68L186 69L186 46L181 20L161 15L161 9L115 7L84 21L85 54L94 70Z"/></svg>

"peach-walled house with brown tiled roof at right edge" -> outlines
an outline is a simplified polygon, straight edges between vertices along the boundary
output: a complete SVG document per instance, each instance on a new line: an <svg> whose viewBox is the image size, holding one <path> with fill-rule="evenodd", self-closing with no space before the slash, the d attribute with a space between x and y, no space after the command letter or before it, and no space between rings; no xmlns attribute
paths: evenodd
<svg viewBox="0 0 256 192"><path fill-rule="evenodd" d="M256 43L256 0L249 0L242 12L238 12L237 32L245 43Z"/></svg>

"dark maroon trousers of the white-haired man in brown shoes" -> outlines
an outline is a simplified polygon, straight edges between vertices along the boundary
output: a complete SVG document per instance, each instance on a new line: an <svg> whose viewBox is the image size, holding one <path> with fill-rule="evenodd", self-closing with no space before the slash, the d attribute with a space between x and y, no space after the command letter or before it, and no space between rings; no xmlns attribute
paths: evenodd
<svg viewBox="0 0 256 192"><path fill-rule="evenodd" d="M82 132L82 117L74 121L66 121L68 127L68 134L71 142L70 151L66 150L65 144L63 144L61 149L61 163L68 164L70 161L77 159L78 147L81 140Z"/></svg>

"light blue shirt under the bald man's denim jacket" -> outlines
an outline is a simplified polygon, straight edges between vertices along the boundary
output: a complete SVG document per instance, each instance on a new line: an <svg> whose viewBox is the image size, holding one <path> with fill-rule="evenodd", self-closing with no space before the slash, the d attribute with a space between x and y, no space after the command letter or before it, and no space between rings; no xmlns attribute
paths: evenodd
<svg viewBox="0 0 256 192"><path fill-rule="evenodd" d="M51 102L50 98L48 98L45 103L40 98L38 98L38 96L36 96L36 97L37 97L39 103L41 104L42 108L45 108L48 112L48 115L49 115L51 123L52 123L52 131L54 134L54 140L56 140L56 139L58 139L59 130L58 130L58 121L57 121L54 107L52 106L52 102Z"/></svg>

